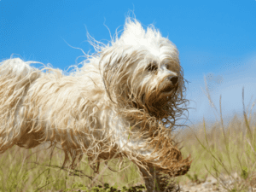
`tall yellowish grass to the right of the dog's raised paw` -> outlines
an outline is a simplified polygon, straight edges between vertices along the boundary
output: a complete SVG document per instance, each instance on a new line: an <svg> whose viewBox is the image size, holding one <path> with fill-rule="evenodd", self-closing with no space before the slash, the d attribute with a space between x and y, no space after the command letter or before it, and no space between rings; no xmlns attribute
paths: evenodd
<svg viewBox="0 0 256 192"><path fill-rule="evenodd" d="M226 191L248 191L256 188L256 113L252 113L255 102L251 108L245 108L242 90L243 116L235 114L229 124L224 125L221 96L219 111L208 90L207 96L219 119L211 127L203 119L195 127L181 132L182 153L185 156L191 154L194 159L187 176L190 180L201 183L212 175ZM232 184L224 183L222 176L228 176ZM187 180L180 177L177 182Z"/></svg>

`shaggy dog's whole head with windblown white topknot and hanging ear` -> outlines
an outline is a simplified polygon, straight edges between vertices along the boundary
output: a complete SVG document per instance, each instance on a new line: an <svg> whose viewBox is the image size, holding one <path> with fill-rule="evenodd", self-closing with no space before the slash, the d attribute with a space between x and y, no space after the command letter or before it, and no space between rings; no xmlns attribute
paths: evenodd
<svg viewBox="0 0 256 192"><path fill-rule="evenodd" d="M183 111L179 106L185 101L185 87L177 48L154 26L144 30L137 20L126 19L124 32L102 49L100 57L113 102L167 121L170 116L175 121Z"/></svg>

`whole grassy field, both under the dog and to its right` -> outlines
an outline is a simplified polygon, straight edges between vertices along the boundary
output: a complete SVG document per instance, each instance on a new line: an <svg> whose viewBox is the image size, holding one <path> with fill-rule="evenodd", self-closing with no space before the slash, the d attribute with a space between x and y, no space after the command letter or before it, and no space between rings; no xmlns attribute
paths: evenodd
<svg viewBox="0 0 256 192"><path fill-rule="evenodd" d="M252 113L253 106L241 109L244 115L235 115L228 125L223 124L220 110L219 120L211 127L202 120L201 124L178 133L176 138L183 146L182 153L185 157L191 154L193 163L189 173L176 177L176 182L200 183L210 175L218 178L220 174L232 176L236 172L240 179L232 177L237 180L236 184L226 187L227 191L247 191L250 184L256 187L256 114ZM64 153L58 148L53 151L43 147L10 148L0 155L0 191L78 191L103 183L116 187L143 183L137 167L129 160L123 166L130 164L129 168L122 172L112 172L102 164L100 175L90 169L85 157L79 165L81 172L60 169L63 160ZM115 160L109 162L110 167L118 170L115 165Z"/></svg>

